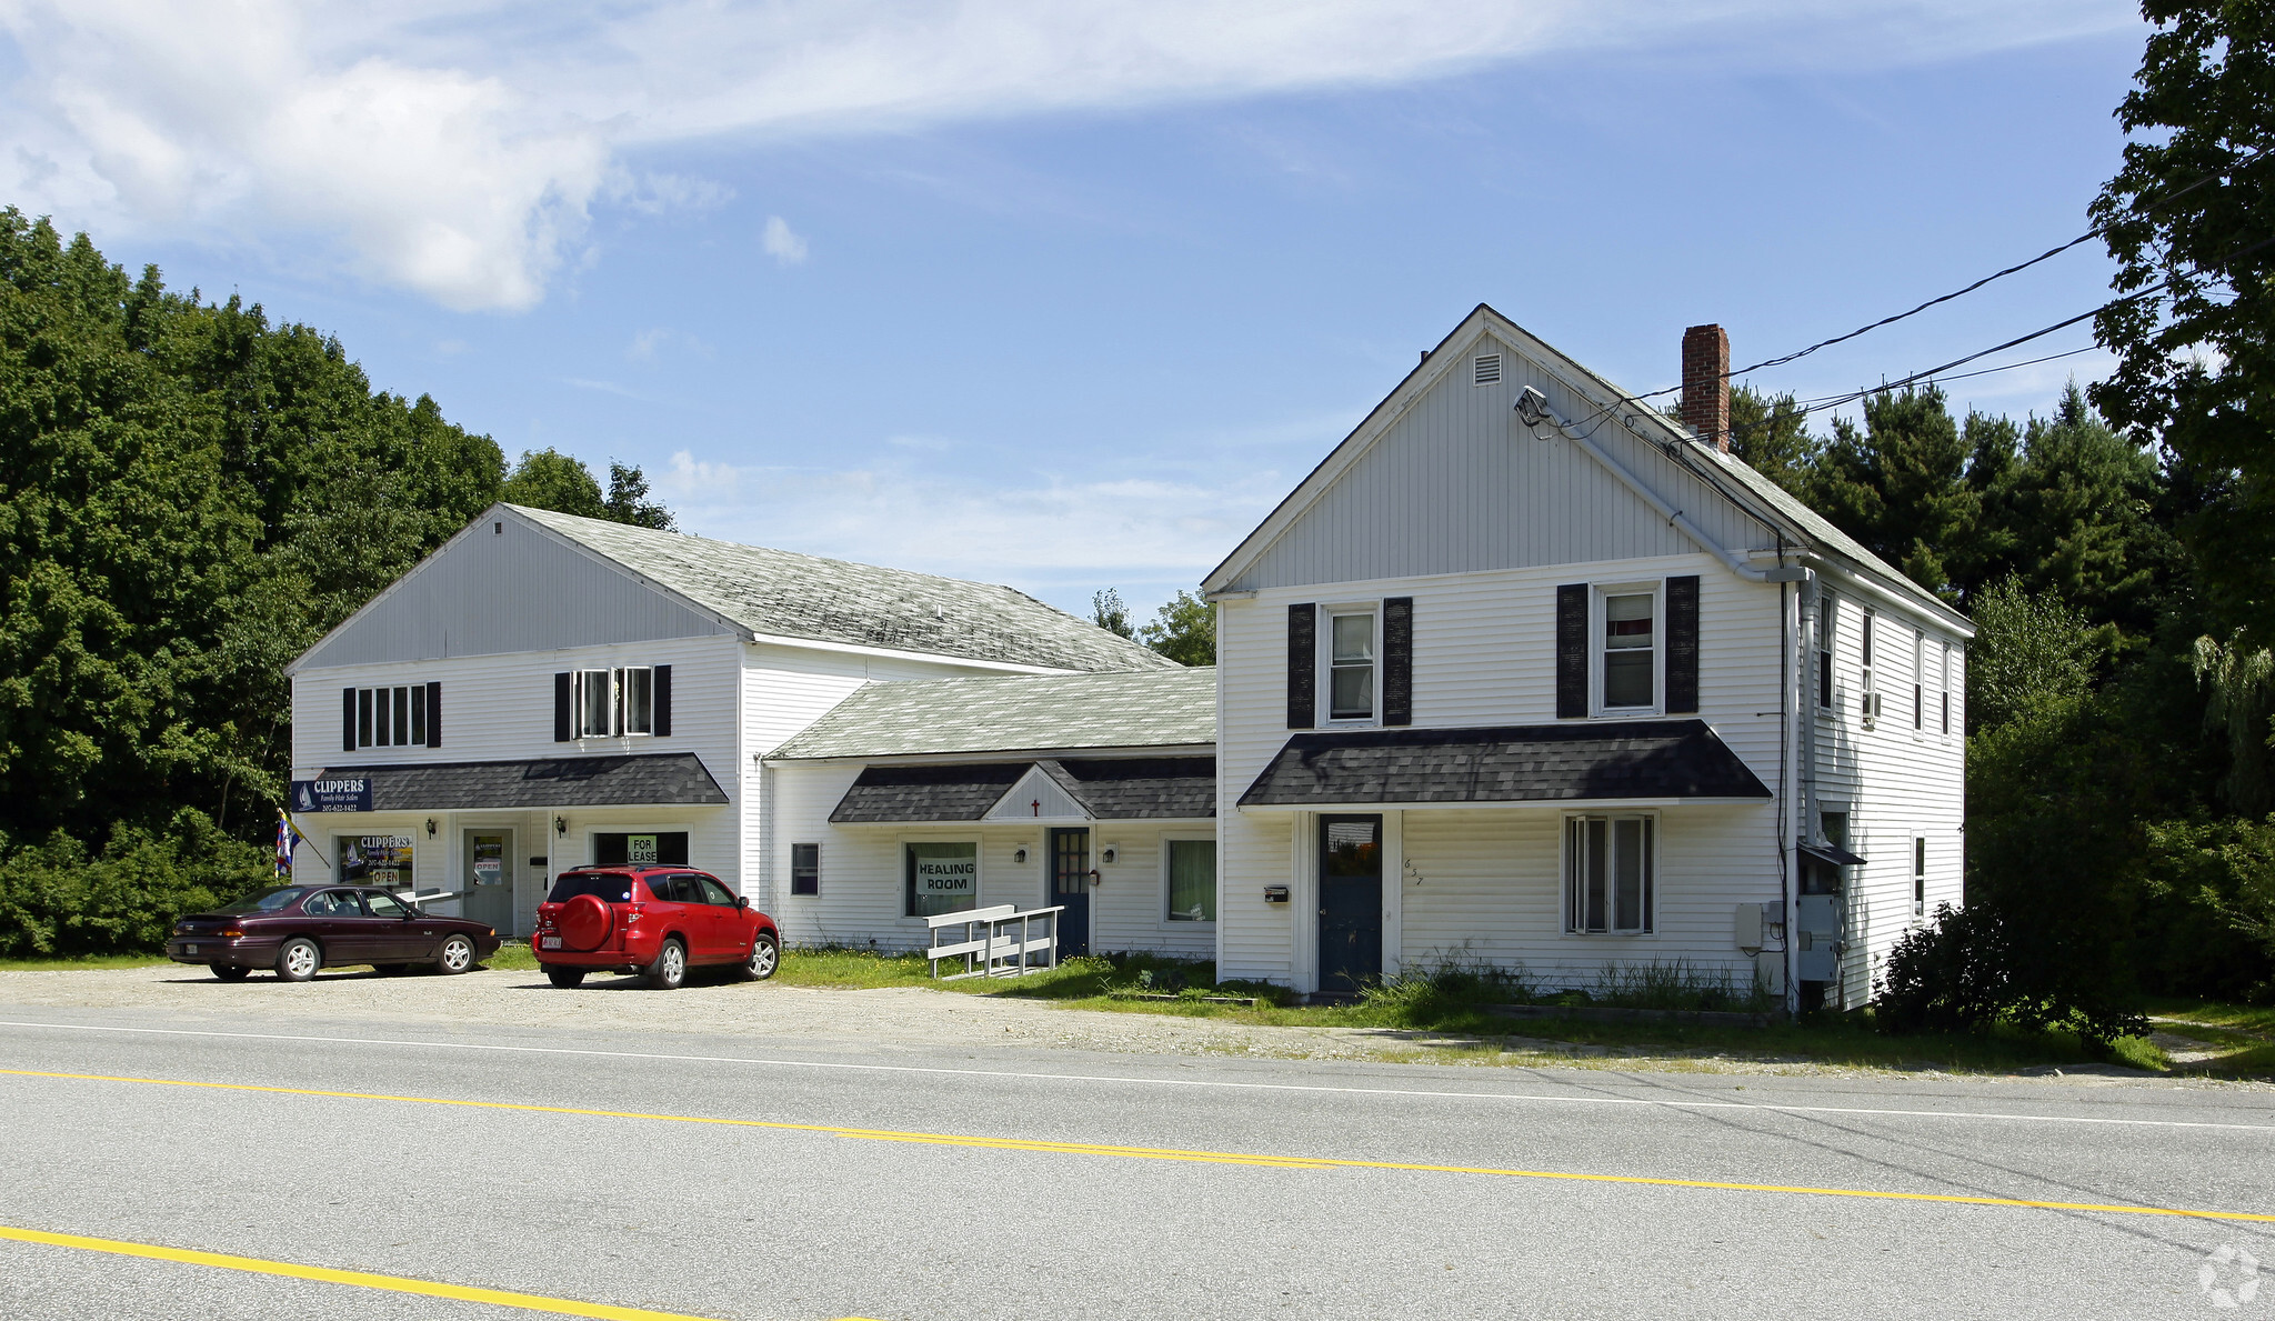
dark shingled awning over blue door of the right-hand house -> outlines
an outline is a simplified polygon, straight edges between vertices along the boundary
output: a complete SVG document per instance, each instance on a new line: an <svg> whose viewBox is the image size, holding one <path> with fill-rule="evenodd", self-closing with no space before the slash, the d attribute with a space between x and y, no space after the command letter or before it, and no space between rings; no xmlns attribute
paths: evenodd
<svg viewBox="0 0 2275 1321"><path fill-rule="evenodd" d="M1297 734L1242 807L1745 800L1770 789L1706 721Z"/></svg>

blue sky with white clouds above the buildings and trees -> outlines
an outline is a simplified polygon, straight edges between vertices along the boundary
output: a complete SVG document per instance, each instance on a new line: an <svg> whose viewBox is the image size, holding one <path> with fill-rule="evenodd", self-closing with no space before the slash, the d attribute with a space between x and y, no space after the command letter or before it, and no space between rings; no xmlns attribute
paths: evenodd
<svg viewBox="0 0 2275 1321"><path fill-rule="evenodd" d="M1754 362L2079 234L2143 36L2102 0L0 0L0 200L510 455L642 464L692 532L1144 614L1476 302L1645 391L1686 325ZM2107 277L2088 246L1756 384ZM2045 412L2104 364L1950 389Z"/></svg>

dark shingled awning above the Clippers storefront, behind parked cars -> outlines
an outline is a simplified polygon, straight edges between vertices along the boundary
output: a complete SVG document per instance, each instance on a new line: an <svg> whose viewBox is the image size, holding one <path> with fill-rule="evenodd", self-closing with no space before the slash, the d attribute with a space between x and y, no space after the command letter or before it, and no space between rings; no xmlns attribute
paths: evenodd
<svg viewBox="0 0 2275 1321"><path fill-rule="evenodd" d="M371 812L466 812L482 807L723 805L726 791L694 753L637 757L546 757L532 762L421 762L325 766L318 782L366 780Z"/></svg>

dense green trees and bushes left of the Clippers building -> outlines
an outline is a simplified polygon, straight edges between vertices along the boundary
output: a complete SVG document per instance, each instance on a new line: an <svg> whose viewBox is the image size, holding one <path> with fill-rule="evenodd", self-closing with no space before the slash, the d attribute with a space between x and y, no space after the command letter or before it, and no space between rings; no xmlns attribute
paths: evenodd
<svg viewBox="0 0 2275 1321"><path fill-rule="evenodd" d="M639 468L507 464L337 339L0 209L0 955L150 948L266 878L284 664L500 498L671 525Z"/></svg>

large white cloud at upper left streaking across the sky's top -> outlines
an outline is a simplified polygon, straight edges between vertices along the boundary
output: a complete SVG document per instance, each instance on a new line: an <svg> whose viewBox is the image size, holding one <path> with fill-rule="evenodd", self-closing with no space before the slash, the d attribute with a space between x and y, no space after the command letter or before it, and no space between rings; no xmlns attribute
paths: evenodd
<svg viewBox="0 0 2275 1321"><path fill-rule="evenodd" d="M2138 27L2125 0L0 0L0 193L68 223L275 246L446 307L521 309L628 146L1397 84L1574 50L1761 68L1936 59ZM14 59L9 59L9 55ZM778 221L780 261L803 241Z"/></svg>

